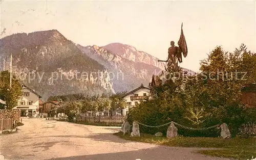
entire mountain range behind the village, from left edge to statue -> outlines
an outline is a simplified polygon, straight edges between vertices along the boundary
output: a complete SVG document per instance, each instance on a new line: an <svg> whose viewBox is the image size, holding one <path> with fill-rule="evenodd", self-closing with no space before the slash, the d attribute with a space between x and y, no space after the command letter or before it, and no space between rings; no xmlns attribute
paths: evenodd
<svg viewBox="0 0 256 160"><path fill-rule="evenodd" d="M52 95L101 95L107 88L111 93L130 91L141 83L147 86L166 65L131 45L76 45L57 30L0 39L1 70L10 70L11 54L14 74L44 100Z"/></svg>

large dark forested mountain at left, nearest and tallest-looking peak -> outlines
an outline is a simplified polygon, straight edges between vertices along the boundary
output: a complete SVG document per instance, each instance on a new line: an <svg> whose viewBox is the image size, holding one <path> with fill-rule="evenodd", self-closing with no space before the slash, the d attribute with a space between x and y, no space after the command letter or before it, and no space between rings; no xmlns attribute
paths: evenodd
<svg viewBox="0 0 256 160"><path fill-rule="evenodd" d="M57 30L18 33L0 39L1 69L13 72L45 99L51 95L102 94L108 72ZM111 84L111 90L114 92Z"/></svg>

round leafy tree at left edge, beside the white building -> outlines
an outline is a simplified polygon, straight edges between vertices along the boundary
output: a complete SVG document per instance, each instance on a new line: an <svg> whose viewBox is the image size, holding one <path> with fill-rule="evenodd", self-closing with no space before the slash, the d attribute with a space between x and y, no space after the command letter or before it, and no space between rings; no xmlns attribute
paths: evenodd
<svg viewBox="0 0 256 160"><path fill-rule="evenodd" d="M22 84L20 84L19 79L12 75L12 86L10 88L10 72L0 72L0 98L6 101L7 109L17 106L17 100L22 95Z"/></svg>

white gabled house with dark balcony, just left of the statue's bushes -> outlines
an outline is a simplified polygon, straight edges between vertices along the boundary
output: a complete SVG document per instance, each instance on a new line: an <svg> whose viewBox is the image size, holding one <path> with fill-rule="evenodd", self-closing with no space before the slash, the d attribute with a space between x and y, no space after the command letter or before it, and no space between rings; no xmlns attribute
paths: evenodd
<svg viewBox="0 0 256 160"><path fill-rule="evenodd" d="M125 116L129 112L129 109L135 106L136 103L140 103L141 100L145 101L148 98L150 98L150 88L144 87L143 84L131 92L126 93L123 99L126 100L128 107L123 109L123 116Z"/></svg>

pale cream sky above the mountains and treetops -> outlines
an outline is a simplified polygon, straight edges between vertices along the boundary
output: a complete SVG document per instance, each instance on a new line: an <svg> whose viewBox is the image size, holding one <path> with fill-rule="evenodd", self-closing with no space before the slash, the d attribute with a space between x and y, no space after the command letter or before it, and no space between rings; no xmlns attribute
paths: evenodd
<svg viewBox="0 0 256 160"><path fill-rule="evenodd" d="M56 29L83 46L119 42L166 60L183 22L188 54L180 66L199 71L217 45L231 52L244 43L256 52L255 2L2 0L1 38Z"/></svg>

